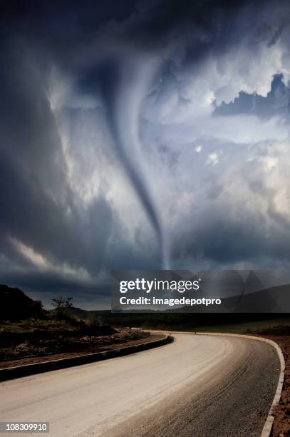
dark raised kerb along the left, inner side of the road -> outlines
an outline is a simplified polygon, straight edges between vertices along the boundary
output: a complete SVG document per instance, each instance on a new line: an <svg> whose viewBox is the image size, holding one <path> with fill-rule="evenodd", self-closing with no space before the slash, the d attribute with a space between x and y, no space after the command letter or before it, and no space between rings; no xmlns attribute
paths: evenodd
<svg viewBox="0 0 290 437"><path fill-rule="evenodd" d="M22 378L24 376L36 375L37 373L59 370L61 368L81 366L82 364L94 363L95 361L118 358L119 356L129 355L130 353L157 348L159 346L172 343L172 341L174 341L172 336L164 334L163 338L157 338L157 340L147 341L145 343L135 344L133 346L125 346L123 348L115 348L111 349L110 351L86 353L85 355L58 358L51 361L41 361L41 363L31 363L24 364L22 366L1 368L0 382Z"/></svg>

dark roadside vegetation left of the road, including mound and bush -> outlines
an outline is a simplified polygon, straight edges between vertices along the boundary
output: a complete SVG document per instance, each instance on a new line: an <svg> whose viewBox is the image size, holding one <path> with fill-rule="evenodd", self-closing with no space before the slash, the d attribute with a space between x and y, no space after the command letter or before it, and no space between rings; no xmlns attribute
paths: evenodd
<svg viewBox="0 0 290 437"><path fill-rule="evenodd" d="M18 308L24 302L25 310ZM14 361L16 365L26 363L28 358L31 362L31 358L100 351L149 336L146 331L113 328L100 318L83 321L68 312L72 298L55 298L54 309L46 311L41 302L36 303L17 288L0 286L1 303L0 367L13 366Z"/></svg>

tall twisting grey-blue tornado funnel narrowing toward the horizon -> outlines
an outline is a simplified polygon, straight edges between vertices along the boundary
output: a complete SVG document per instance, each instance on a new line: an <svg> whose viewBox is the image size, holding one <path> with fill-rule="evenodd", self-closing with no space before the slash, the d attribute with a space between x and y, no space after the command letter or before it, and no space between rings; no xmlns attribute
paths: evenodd
<svg viewBox="0 0 290 437"><path fill-rule="evenodd" d="M133 184L138 199L155 231L162 269L169 269L169 253L162 218L148 178L139 135L141 104L157 71L157 61L134 57L110 60L103 68L102 94L108 124L118 156Z"/></svg>

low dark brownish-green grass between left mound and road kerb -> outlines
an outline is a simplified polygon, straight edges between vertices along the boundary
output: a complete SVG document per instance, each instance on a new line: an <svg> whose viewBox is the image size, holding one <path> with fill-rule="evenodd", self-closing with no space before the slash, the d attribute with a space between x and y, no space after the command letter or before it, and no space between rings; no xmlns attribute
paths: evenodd
<svg viewBox="0 0 290 437"><path fill-rule="evenodd" d="M85 323L75 318L29 318L0 322L0 361L89 351L145 338L149 333Z"/></svg>

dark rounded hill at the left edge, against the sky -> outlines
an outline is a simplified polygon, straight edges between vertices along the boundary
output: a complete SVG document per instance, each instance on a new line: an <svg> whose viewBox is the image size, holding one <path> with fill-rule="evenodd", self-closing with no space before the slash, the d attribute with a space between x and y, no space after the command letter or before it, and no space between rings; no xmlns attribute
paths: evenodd
<svg viewBox="0 0 290 437"><path fill-rule="evenodd" d="M0 320L39 317L42 311L41 302L33 301L19 288L0 284Z"/></svg>

